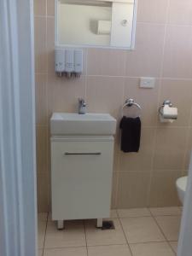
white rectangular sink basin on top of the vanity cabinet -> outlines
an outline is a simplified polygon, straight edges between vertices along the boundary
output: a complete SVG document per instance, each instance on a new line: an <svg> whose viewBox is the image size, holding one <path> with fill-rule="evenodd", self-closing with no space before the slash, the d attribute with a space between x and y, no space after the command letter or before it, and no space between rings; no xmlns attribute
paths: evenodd
<svg viewBox="0 0 192 256"><path fill-rule="evenodd" d="M113 135L116 119L109 113L53 113L51 135Z"/></svg>

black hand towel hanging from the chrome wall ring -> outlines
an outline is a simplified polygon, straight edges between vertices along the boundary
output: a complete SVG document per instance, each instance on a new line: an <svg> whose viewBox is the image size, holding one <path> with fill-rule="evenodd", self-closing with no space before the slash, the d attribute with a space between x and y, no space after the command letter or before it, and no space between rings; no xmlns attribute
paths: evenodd
<svg viewBox="0 0 192 256"><path fill-rule="evenodd" d="M123 152L138 152L141 138L141 119L123 117L120 121L121 150Z"/></svg>

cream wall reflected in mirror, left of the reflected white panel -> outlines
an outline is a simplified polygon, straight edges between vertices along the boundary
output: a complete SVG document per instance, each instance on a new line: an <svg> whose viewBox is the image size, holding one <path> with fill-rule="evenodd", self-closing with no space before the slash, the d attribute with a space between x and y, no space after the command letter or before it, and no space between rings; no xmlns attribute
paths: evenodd
<svg viewBox="0 0 192 256"><path fill-rule="evenodd" d="M58 44L110 44L110 33L97 34L98 20L111 20L112 7L58 4Z"/></svg>

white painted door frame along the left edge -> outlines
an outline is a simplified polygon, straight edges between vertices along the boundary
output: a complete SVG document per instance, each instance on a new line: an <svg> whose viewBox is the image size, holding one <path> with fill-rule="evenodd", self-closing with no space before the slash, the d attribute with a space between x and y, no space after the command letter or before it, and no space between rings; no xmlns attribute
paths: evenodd
<svg viewBox="0 0 192 256"><path fill-rule="evenodd" d="M0 255L37 254L33 6L0 1Z"/></svg>

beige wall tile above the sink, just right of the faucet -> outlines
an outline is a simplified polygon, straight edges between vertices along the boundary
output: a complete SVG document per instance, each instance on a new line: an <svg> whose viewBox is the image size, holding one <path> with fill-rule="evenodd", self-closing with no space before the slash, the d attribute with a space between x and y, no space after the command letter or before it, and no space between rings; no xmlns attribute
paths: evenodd
<svg viewBox="0 0 192 256"><path fill-rule="evenodd" d="M124 79L111 77L87 78L89 112L111 113L118 117L122 106Z"/></svg>

